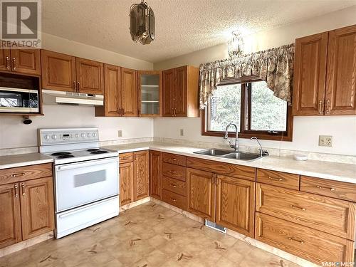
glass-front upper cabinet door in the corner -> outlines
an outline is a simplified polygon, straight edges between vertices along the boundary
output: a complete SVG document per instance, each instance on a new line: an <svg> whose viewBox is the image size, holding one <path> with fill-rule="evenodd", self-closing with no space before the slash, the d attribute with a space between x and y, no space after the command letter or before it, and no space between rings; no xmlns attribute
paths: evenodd
<svg viewBox="0 0 356 267"><path fill-rule="evenodd" d="M139 71L139 116L159 117L162 110L162 75L160 71Z"/></svg>

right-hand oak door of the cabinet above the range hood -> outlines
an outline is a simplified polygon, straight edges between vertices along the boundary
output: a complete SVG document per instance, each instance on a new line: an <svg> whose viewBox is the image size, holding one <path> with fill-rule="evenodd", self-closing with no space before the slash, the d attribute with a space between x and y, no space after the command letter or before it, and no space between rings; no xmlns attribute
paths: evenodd
<svg viewBox="0 0 356 267"><path fill-rule="evenodd" d="M104 94L104 64L75 58L77 88L80 93Z"/></svg>

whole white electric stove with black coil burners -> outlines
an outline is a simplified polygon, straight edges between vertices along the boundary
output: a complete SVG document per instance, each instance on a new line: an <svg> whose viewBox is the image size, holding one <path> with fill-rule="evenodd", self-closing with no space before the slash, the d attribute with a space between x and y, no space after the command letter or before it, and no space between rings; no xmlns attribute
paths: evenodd
<svg viewBox="0 0 356 267"><path fill-rule="evenodd" d="M119 214L118 153L99 147L98 128L39 129L53 158L56 239Z"/></svg>

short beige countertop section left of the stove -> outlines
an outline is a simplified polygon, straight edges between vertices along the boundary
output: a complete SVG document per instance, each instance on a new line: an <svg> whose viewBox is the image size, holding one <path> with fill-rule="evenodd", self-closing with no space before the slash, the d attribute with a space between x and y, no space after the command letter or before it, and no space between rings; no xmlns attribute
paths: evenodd
<svg viewBox="0 0 356 267"><path fill-rule="evenodd" d="M7 155L0 157L0 169L42 164L48 162L53 162L53 159L40 153Z"/></svg>

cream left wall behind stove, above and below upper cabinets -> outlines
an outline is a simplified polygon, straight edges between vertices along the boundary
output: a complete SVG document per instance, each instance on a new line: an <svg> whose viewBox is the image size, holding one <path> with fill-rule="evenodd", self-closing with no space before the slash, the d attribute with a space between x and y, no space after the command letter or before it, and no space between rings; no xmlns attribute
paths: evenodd
<svg viewBox="0 0 356 267"><path fill-rule="evenodd" d="M118 53L77 43L43 33L42 48L136 70L152 70L153 64ZM23 125L20 116L0 116L0 149L37 146L37 128L99 127L100 140L122 140L153 137L153 120L136 117L95 117L94 107L43 105L44 116L31 117L31 125ZM122 130L122 137L117 137Z"/></svg>

